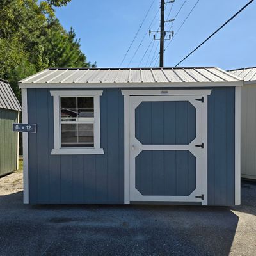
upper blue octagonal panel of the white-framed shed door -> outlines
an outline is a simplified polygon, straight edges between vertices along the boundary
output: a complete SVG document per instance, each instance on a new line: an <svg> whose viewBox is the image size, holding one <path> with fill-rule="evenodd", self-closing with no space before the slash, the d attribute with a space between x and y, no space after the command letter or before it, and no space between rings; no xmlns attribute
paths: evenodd
<svg viewBox="0 0 256 256"><path fill-rule="evenodd" d="M189 144L196 137L196 109L188 102L141 102L135 134L142 144Z"/></svg>

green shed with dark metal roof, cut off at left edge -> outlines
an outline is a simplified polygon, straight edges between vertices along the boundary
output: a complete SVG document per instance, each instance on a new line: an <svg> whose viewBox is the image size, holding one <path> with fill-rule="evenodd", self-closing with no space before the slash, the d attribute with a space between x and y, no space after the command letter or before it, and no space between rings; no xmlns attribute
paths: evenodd
<svg viewBox="0 0 256 256"><path fill-rule="evenodd" d="M12 124L19 122L20 111L10 84L0 79L0 177L19 168L19 134Z"/></svg>

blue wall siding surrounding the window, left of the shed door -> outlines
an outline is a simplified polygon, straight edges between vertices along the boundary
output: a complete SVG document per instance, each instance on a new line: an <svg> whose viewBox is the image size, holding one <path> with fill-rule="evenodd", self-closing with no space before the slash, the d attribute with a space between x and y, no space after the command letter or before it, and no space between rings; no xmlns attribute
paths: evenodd
<svg viewBox="0 0 256 256"><path fill-rule="evenodd" d="M100 97L100 140L104 155L51 155L53 99L49 89L28 90L29 202L31 204L124 203L124 98L120 90Z"/></svg>

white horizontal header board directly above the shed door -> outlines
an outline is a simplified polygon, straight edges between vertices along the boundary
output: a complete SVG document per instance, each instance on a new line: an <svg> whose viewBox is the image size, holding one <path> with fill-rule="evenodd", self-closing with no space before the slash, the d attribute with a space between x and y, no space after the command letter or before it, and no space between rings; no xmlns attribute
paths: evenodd
<svg viewBox="0 0 256 256"><path fill-rule="evenodd" d="M122 95L210 95L212 90L206 89L206 90L168 90L168 89L163 89L163 90L122 90Z"/></svg>

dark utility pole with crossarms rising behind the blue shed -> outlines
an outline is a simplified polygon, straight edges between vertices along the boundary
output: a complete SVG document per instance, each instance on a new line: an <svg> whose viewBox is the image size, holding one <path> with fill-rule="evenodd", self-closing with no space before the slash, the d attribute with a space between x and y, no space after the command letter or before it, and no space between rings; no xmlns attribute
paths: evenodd
<svg viewBox="0 0 256 256"><path fill-rule="evenodd" d="M165 4L168 3L174 3L175 0L169 0L169 1L165 1L165 0L161 0L161 5L160 5L160 15L161 15L161 19L160 19L160 31L159 30L150 30L149 31L149 35L151 35L151 33L155 33L153 35L153 39L154 40L159 40L160 41L160 51L159 51L159 67L164 67L164 41L165 40L171 40L172 36L173 36L173 31L164 31L164 24L166 22L173 22L174 19L170 19L170 20L164 20L164 7ZM156 34L160 33L160 38L156 38ZM166 34L168 34L168 38L166 38Z"/></svg>

